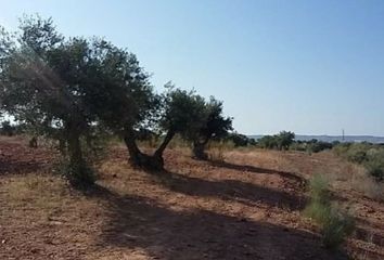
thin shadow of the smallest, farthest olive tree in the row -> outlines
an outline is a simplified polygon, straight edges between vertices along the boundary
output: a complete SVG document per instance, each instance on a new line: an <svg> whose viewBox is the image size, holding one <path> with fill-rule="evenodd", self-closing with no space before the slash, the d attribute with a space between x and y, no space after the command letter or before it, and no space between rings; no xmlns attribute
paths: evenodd
<svg viewBox="0 0 384 260"><path fill-rule="evenodd" d="M230 170L238 170L243 172L277 174L282 178L295 181L300 186L304 186L306 184L306 180L304 178L287 171L272 170L272 169L259 168L259 167L248 166L248 165L235 165L228 161L217 161L217 160L210 160L209 164L215 167L226 168Z"/></svg>

